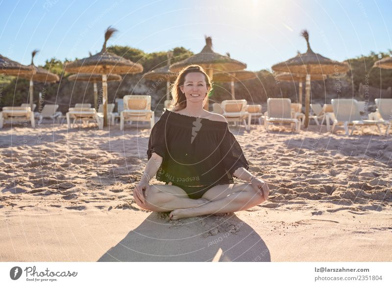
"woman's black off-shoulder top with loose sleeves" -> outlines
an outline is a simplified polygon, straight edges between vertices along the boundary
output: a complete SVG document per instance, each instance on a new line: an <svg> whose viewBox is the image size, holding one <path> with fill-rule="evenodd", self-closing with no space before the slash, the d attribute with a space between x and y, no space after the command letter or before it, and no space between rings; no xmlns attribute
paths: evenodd
<svg viewBox="0 0 392 286"><path fill-rule="evenodd" d="M163 157L156 179L183 186L233 183L239 167L249 169L227 122L166 110L153 126L147 156Z"/></svg>

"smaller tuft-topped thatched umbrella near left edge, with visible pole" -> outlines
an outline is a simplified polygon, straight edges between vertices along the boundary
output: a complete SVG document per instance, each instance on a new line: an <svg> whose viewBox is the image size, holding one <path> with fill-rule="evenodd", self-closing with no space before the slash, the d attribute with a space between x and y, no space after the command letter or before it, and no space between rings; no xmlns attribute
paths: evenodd
<svg viewBox="0 0 392 286"><path fill-rule="evenodd" d="M38 52L39 52L38 50L34 50L33 52L31 52L31 64L28 65L28 67L30 69L30 73L25 73L21 76L22 78L30 79L30 87L28 90L28 94L29 94L28 96L30 98L31 110L33 110L33 102L34 102L34 100L33 100L34 99L34 95L33 95L34 81L41 81L41 82L46 83L46 82L56 82L56 81L60 80L60 78L57 75L34 65L34 62L33 62L34 56Z"/></svg>

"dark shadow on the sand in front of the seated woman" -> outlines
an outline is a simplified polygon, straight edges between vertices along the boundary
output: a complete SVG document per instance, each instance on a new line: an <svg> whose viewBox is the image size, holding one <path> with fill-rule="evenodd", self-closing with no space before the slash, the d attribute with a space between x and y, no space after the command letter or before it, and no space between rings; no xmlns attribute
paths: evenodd
<svg viewBox="0 0 392 286"><path fill-rule="evenodd" d="M98 261L270 261L270 252L234 213L169 221L153 212Z"/></svg>

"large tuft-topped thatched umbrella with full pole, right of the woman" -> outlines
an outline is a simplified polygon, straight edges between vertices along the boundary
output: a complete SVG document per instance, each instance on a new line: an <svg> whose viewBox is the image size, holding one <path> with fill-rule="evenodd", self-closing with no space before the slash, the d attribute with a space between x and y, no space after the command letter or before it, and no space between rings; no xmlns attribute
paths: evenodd
<svg viewBox="0 0 392 286"><path fill-rule="evenodd" d="M289 72L291 74L306 75L305 85L305 127L309 125L310 111L310 80L311 75L331 75L348 71L349 67L346 63L337 62L315 53L310 48L309 33L307 30L302 31L308 45L308 51L301 53L285 62L272 66L275 72Z"/></svg>

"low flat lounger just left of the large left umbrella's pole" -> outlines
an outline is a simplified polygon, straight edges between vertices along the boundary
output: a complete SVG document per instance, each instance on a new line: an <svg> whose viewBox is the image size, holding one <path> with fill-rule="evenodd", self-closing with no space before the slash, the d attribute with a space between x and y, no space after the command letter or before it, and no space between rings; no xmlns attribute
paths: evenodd
<svg viewBox="0 0 392 286"><path fill-rule="evenodd" d="M91 105L90 105L91 106ZM103 129L103 114L98 113L95 108L85 108L85 107L71 107L67 114L67 127L73 128L76 121L82 122L82 124L88 124L93 121L96 122L100 130ZM72 126L71 126L71 121Z"/></svg>

